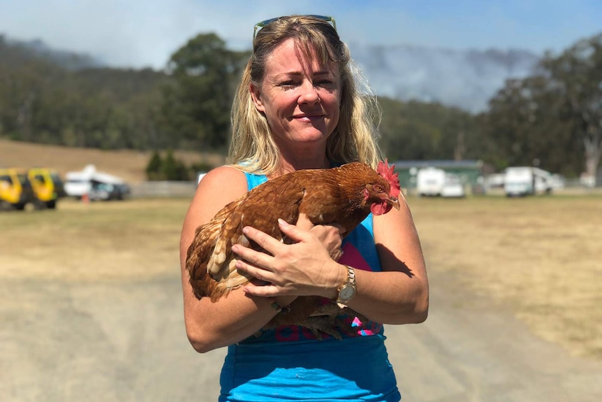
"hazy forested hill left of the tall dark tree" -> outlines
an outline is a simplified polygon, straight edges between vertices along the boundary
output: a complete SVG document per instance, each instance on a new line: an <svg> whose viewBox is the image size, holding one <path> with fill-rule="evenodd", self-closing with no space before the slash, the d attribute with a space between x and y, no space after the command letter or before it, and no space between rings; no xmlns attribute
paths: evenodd
<svg viewBox="0 0 602 402"><path fill-rule="evenodd" d="M89 58L0 36L0 136L87 148L147 149L165 73L98 67Z"/></svg>

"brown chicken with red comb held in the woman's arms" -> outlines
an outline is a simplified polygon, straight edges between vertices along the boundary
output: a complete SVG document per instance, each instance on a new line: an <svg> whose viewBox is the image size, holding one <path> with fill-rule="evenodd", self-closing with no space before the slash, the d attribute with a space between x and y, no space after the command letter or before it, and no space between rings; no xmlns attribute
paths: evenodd
<svg viewBox="0 0 602 402"><path fill-rule="evenodd" d="M235 268L236 255L230 247L239 243L261 249L242 234L245 226L254 227L281 241L278 218L295 224L300 214L313 224L337 223L350 233L372 212L399 209L399 179L394 166L381 162L374 171L367 164L354 162L338 168L300 170L268 180L222 208L213 219L196 229L186 257L190 283L198 299L208 296L217 301L231 289L245 285L246 273ZM317 296L301 296L288 314L279 314L266 329L297 324L331 333L329 327L341 324L334 317L344 307L324 303ZM325 317L325 318L324 318Z"/></svg>

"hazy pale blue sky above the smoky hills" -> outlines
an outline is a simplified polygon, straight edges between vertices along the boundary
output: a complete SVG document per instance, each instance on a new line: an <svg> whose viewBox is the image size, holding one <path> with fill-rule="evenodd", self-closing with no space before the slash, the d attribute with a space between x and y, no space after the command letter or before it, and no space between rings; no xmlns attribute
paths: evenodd
<svg viewBox="0 0 602 402"><path fill-rule="evenodd" d="M256 22L290 14L332 15L350 45L541 54L602 32L601 0L0 0L0 34L112 66L161 69L196 34L215 32L230 49L247 49Z"/></svg>

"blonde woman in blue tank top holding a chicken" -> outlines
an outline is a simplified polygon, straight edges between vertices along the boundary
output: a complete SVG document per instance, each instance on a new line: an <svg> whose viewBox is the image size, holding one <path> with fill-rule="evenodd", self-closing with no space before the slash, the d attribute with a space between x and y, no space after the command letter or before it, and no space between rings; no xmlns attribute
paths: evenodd
<svg viewBox="0 0 602 402"><path fill-rule="evenodd" d="M186 333L198 352L228 346L220 401L399 401L382 324L423 322L428 310L425 263L403 196L399 211L369 215L344 241L336 226L310 222L281 224L293 245L246 228L270 254L235 245L237 268L268 285L246 285L216 303L196 299L189 285L184 261L194 229L230 201L298 169L380 159L374 98L356 86L334 20L289 16L258 28L233 106L232 165L201 180L182 229ZM301 295L344 298L369 322L347 317L342 340L294 326L262 331Z"/></svg>

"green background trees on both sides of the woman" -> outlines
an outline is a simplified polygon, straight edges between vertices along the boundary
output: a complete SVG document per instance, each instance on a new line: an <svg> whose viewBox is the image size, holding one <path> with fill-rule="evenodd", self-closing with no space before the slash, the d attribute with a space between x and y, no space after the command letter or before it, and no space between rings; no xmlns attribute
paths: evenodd
<svg viewBox="0 0 602 402"><path fill-rule="evenodd" d="M248 58L216 34L198 34L164 71L73 69L0 36L0 137L155 150L149 177L165 177L156 167L161 150L226 152L230 106ZM531 76L507 80L483 113L378 100L389 160L480 159L498 171L534 165L595 176L602 155L602 34L559 55L547 52ZM182 171L166 160L164 170Z"/></svg>

